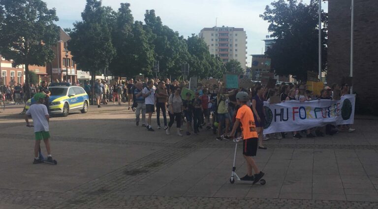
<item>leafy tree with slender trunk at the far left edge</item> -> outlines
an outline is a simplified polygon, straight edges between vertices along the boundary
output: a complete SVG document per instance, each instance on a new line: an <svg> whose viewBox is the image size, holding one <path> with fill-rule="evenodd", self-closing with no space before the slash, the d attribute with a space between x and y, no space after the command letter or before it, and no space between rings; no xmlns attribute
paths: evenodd
<svg viewBox="0 0 378 209"><path fill-rule="evenodd" d="M0 0L0 52L12 65L25 65L26 95L30 98L29 65L45 66L55 58L59 37L55 9L42 0Z"/></svg>

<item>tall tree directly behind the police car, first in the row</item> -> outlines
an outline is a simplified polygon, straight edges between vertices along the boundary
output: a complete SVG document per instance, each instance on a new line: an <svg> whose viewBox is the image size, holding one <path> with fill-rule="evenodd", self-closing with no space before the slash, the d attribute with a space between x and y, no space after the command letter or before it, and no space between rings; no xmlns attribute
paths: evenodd
<svg viewBox="0 0 378 209"><path fill-rule="evenodd" d="M116 55L111 37L114 15L110 7L101 5L100 0L87 0L81 13L82 21L75 22L69 32L71 39L67 47L72 59L84 71L91 72L92 81L95 81L96 72L107 69Z"/></svg>

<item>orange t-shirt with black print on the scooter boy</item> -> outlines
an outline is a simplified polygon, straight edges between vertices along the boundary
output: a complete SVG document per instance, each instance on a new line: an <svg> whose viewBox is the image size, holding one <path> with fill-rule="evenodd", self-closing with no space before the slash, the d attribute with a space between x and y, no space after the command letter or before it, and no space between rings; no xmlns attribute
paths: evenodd
<svg viewBox="0 0 378 209"><path fill-rule="evenodd" d="M257 138L256 125L254 124L253 113L250 107L243 105L239 108L236 118L240 119L243 132L243 139Z"/></svg>

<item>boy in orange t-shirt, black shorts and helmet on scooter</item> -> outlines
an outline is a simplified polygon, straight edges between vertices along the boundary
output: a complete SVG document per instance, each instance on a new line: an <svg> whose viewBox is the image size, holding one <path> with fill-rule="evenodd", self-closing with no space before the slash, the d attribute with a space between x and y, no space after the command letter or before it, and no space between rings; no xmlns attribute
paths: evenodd
<svg viewBox="0 0 378 209"><path fill-rule="evenodd" d="M256 156L258 147L258 136L256 132L256 126L254 124L252 110L246 104L248 99L249 95L245 91L240 91L236 94L237 103L241 107L239 108L236 114L236 120L230 136L233 137L235 135L235 131L239 127L239 123L241 122L241 128L244 139L243 156L246 159L248 170L247 175L241 178L241 180L253 180L253 184L255 184L264 176L264 173L258 170L256 162L252 158L252 156ZM252 175L252 168L255 172L254 176Z"/></svg>

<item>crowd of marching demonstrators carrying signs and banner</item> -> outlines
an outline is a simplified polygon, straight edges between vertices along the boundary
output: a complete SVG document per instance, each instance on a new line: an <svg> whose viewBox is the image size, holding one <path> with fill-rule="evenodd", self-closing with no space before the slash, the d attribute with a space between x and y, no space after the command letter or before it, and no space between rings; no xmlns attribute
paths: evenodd
<svg viewBox="0 0 378 209"><path fill-rule="evenodd" d="M87 84L86 90L90 90ZM328 124L325 127L315 127L308 130L298 130L292 133L263 134L265 125L264 101L270 102L273 96L280 97L281 102L296 100L306 102L316 99L333 99L334 92L340 93L338 96L348 94L347 84L341 86L334 84L332 87L326 86L316 96L314 92L307 90L304 84L282 83L275 88L266 89L260 83L255 83L251 89L225 89L221 83L212 85L201 85L194 91L182 94L182 90L188 89L187 82L173 81L169 79L144 81L118 81L114 85L107 85L106 82L98 80L95 83L95 97L97 105L100 103L118 101L128 102L128 109L135 111L135 123L137 126L146 127L148 131L163 129L166 134L171 134L171 129L176 123L176 134L178 136L199 134L202 130L212 130L216 135L216 140L231 140L230 132L239 105L236 94L245 91L249 95L247 106L251 108L256 132L258 133L258 148L266 149L263 141L276 138L286 138L287 134L292 134L294 139L332 136L340 130L354 131L349 125L335 126ZM156 125L153 125L152 115L156 112ZM160 115L161 114L161 115ZM167 120L167 116L169 121ZM163 118L163 125L160 118ZM142 118L142 119L140 119ZM185 128L183 127L185 124ZM186 129L184 131L184 129ZM236 134L240 134L240 130Z"/></svg>

